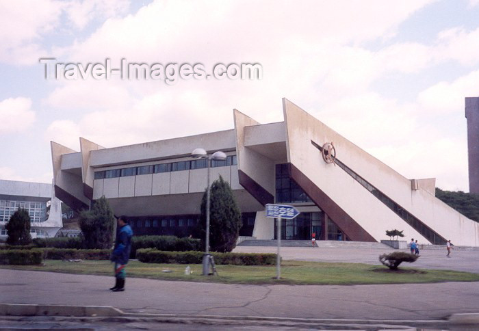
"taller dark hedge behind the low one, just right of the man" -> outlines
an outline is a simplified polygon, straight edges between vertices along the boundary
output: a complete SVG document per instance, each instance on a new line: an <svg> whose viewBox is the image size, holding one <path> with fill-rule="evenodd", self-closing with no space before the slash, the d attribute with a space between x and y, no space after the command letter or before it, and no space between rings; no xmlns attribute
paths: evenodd
<svg viewBox="0 0 479 331"><path fill-rule="evenodd" d="M136 250L156 248L168 252L185 252L203 250L200 239L178 238L174 236L138 236L131 239L130 259L135 259Z"/></svg>

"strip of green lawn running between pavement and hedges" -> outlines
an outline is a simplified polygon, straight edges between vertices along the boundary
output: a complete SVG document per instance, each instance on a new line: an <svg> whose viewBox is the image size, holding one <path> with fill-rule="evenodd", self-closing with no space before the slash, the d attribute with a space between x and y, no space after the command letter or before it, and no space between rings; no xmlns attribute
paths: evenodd
<svg viewBox="0 0 479 331"><path fill-rule="evenodd" d="M46 260L44 265L0 265L4 269L63 272L112 276L109 261L81 261L78 263ZM283 261L281 279L276 280L276 266L217 265L219 276L201 276L201 265L190 265L191 275L185 275L186 265L156 264L130 261L128 277L161 280L188 280L192 282L222 282L229 284L398 284L424 282L474 282L479 274L449 270L400 268L402 272L389 272L387 267L364 263L324 263ZM163 272L168 269L170 272Z"/></svg>

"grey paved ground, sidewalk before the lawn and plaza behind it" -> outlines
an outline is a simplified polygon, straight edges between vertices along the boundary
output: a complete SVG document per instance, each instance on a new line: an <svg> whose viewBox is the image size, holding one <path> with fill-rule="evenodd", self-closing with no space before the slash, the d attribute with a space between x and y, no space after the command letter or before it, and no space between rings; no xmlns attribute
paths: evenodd
<svg viewBox="0 0 479 331"><path fill-rule="evenodd" d="M276 252L238 247L237 252ZM393 251L393 250L391 250ZM378 264L389 248L281 248L283 259ZM379 253L379 254L378 254ZM479 252L424 250L414 267L479 272ZM114 306L125 313L287 319L441 321L479 313L479 282L384 285L244 285L128 278L125 292L108 290L109 276L0 269L0 299L8 304Z"/></svg>

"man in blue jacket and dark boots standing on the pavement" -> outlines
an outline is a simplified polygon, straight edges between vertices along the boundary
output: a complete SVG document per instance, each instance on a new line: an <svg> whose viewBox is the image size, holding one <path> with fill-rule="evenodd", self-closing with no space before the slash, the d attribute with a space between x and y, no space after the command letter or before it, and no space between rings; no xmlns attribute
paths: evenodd
<svg viewBox="0 0 479 331"><path fill-rule="evenodd" d="M133 230L128 225L127 217L122 215L117 219L118 227L116 228L115 247L112 252L112 262L115 263L115 286L111 288L114 292L125 291L125 278L127 273L128 259L131 252L131 237L133 237Z"/></svg>

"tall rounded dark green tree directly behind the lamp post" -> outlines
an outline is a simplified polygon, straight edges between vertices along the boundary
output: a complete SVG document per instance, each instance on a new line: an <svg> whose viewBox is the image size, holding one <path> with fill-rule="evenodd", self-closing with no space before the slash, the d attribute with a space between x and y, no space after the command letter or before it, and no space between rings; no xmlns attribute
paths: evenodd
<svg viewBox="0 0 479 331"><path fill-rule="evenodd" d="M239 228L242 226L241 211L233 191L222 176L211 183L209 206L209 246L213 252L231 252L236 246ZM201 200L200 238L205 238L207 192Z"/></svg>

